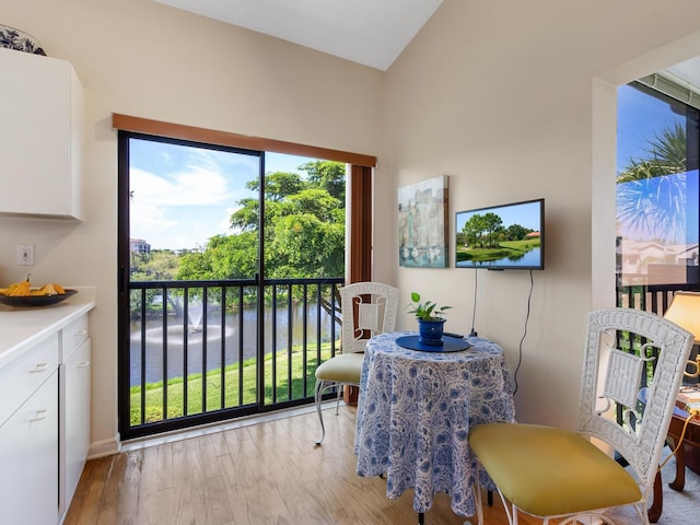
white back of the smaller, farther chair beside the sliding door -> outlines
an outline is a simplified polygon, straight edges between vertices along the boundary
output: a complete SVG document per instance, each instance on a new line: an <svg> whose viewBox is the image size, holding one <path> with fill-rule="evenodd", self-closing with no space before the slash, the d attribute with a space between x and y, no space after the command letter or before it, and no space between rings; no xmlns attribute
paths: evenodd
<svg viewBox="0 0 700 525"><path fill-rule="evenodd" d="M381 282L355 282L340 289L342 353L363 352L368 339L393 331L398 289Z"/></svg>

